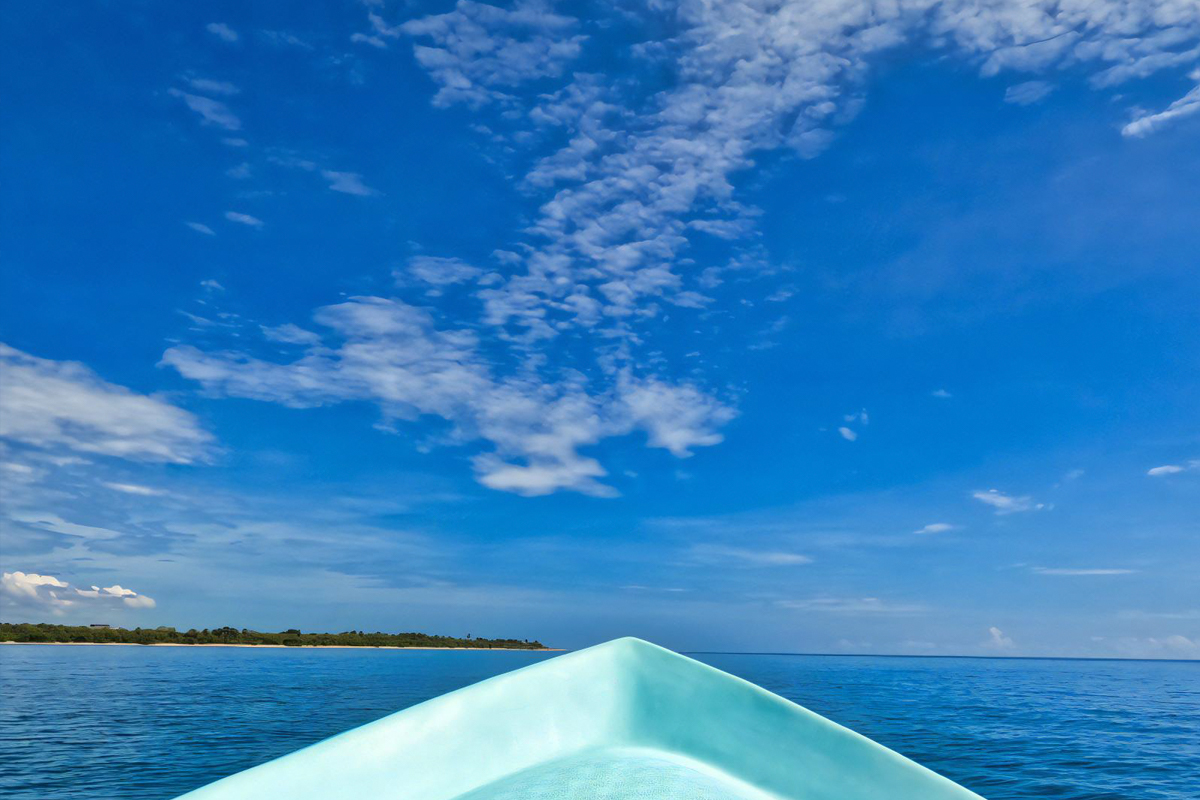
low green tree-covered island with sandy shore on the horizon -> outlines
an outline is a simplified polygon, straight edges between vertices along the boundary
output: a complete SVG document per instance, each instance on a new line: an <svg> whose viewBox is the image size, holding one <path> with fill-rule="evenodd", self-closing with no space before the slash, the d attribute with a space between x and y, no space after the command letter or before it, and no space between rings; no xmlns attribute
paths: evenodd
<svg viewBox="0 0 1200 800"><path fill-rule="evenodd" d="M479 639L428 633L301 633L296 628L265 633L250 628L215 627L176 631L173 627L112 627L109 625L53 625L0 622L0 642L29 644L199 644L287 648L436 648L470 650L548 650L528 639Z"/></svg>

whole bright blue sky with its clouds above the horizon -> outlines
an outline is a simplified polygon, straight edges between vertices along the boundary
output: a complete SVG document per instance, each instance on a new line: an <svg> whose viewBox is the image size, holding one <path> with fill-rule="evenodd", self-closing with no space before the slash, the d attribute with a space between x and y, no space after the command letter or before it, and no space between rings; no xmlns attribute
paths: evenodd
<svg viewBox="0 0 1200 800"><path fill-rule="evenodd" d="M5 620L1200 656L1200 11L4 10Z"/></svg>

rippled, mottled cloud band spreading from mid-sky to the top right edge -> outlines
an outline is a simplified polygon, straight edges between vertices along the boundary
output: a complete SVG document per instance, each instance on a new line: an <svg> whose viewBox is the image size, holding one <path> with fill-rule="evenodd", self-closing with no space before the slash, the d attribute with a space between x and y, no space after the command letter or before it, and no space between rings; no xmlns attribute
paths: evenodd
<svg viewBox="0 0 1200 800"><path fill-rule="evenodd" d="M866 76L888 52L936 42L983 77L1073 66L1108 88L1194 60L1182 43L1200 36L1193 11L1166 23L1122 0L713 2L662 11L678 34L637 55L672 82L648 97L568 72L587 40L577 20L545 4L502 10L464 0L396 25L370 12L372 43L413 40L418 64L439 86L436 106L500 103L499 127L487 130L511 146L551 130L566 137L524 175L544 203L526 246L506 251L502 283L480 293L488 324L551 338L606 318L624 331L652 319L659 300L695 305L726 267L680 271L692 236L739 242L756 233L758 212L737 198L731 176L757 152L822 152L862 107ZM504 92L564 77L534 97ZM1027 80L1010 98L1031 101L1039 91L1045 86Z"/></svg>

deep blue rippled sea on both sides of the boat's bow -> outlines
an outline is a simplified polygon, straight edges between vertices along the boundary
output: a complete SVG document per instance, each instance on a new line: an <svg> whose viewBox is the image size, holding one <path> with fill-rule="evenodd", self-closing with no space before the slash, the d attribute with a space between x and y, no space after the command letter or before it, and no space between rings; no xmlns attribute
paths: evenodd
<svg viewBox="0 0 1200 800"><path fill-rule="evenodd" d="M1200 662L694 655L990 800L1200 798ZM166 800L547 657L4 645L0 798Z"/></svg>

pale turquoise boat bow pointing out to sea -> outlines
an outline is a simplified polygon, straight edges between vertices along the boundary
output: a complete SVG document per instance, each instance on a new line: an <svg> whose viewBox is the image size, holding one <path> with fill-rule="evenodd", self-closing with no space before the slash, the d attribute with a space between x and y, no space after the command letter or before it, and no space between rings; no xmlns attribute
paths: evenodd
<svg viewBox="0 0 1200 800"><path fill-rule="evenodd" d="M982 800L794 703L624 638L414 705L187 800Z"/></svg>

